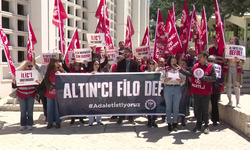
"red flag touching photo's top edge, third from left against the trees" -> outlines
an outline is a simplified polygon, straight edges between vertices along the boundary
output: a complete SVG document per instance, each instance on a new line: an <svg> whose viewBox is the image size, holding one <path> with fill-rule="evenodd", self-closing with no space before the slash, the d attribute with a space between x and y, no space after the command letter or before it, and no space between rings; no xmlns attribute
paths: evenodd
<svg viewBox="0 0 250 150"><path fill-rule="evenodd" d="M188 47L188 27L189 27L189 12L187 8L187 1L185 0L182 17L181 17L181 28L180 28L180 40L182 43L182 51L181 53L186 53L186 49Z"/></svg>

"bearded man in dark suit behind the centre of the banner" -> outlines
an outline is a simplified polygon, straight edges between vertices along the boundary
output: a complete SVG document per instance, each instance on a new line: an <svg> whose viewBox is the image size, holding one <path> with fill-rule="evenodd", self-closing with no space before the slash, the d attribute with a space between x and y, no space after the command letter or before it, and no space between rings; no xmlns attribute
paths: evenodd
<svg viewBox="0 0 250 150"><path fill-rule="evenodd" d="M118 62L117 65L117 72L138 72L137 62L133 59L131 59L130 55L132 53L132 50L130 48L124 49L124 59ZM125 116L120 116L117 123L121 124L124 120ZM134 122L133 117L129 116L129 121L131 123Z"/></svg>

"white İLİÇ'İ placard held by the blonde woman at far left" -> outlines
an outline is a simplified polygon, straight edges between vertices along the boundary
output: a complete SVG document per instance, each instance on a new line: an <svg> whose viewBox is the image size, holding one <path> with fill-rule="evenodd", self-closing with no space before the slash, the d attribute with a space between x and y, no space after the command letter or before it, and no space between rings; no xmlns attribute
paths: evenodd
<svg viewBox="0 0 250 150"><path fill-rule="evenodd" d="M16 71L17 86L38 85L36 80L38 80L37 70Z"/></svg>

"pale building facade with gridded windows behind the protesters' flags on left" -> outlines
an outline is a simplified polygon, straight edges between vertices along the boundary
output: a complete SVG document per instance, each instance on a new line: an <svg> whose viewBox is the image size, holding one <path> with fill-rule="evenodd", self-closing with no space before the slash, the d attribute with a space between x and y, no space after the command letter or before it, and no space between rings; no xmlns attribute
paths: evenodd
<svg viewBox="0 0 250 150"><path fill-rule="evenodd" d="M75 28L82 48L88 47L86 33L94 33L98 20L95 12L100 0L61 0L68 18L64 20L66 48ZM125 40L127 16L130 15L135 34L133 47L138 47L149 24L150 0L107 0L110 32L114 46ZM10 42L10 54L16 67L27 59L27 15L36 35L36 56L59 48L59 29L52 24L54 0L0 0L0 24ZM0 45L0 98L11 91L9 68ZM37 59L40 63L41 60Z"/></svg>

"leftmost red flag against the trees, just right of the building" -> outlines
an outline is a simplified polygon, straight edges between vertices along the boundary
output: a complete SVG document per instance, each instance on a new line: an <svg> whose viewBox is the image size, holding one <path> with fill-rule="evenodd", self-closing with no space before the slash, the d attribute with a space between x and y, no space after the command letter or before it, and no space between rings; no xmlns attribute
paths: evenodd
<svg viewBox="0 0 250 150"><path fill-rule="evenodd" d="M161 11L158 9L158 16L155 30L155 43L153 59L158 62L160 57L164 57L167 48L167 36L165 34L165 26L162 20Z"/></svg>

